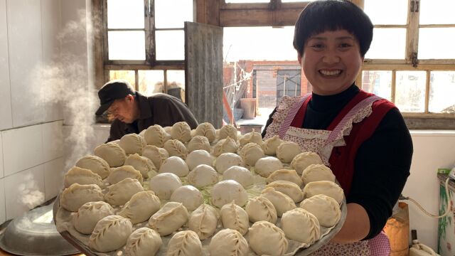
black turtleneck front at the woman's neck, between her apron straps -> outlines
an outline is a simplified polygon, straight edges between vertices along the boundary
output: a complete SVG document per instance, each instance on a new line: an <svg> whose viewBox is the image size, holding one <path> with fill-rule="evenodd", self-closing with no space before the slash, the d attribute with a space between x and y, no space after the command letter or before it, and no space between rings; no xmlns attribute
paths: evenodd
<svg viewBox="0 0 455 256"><path fill-rule="evenodd" d="M303 128L326 129L332 120L346 104L359 92L359 88L353 84L348 89L336 95L316 95L313 93L306 114Z"/></svg>

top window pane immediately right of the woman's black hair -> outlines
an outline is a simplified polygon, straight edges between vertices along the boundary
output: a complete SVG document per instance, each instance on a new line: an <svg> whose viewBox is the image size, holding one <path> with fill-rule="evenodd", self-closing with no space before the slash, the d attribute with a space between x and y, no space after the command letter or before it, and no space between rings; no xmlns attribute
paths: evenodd
<svg viewBox="0 0 455 256"><path fill-rule="evenodd" d="M407 0L365 0L364 11L370 16L373 24L405 25L407 23Z"/></svg>

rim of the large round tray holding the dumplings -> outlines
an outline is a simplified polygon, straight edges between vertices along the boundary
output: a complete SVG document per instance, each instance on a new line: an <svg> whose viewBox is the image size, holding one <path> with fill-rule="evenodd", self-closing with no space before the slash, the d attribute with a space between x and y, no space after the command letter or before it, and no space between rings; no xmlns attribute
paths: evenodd
<svg viewBox="0 0 455 256"><path fill-rule="evenodd" d="M337 182L338 183L338 182ZM57 222L59 221L59 218L58 218L58 211L59 210L62 210L62 211L65 211L63 208L60 208L60 196L57 196L56 200L55 200L55 203L53 205L53 217L54 217L54 222L55 222L55 225L57 225ZM322 238L320 238L319 240L317 240L313 245L310 245L309 247L306 247L306 248L303 248L303 247L296 247L295 250L289 252L287 252L286 255L298 255L298 256L304 256L304 255L310 255L312 252L315 252L316 250L318 250L320 247L322 247L323 245L325 245L326 243L328 243L332 238L333 236L336 235L336 233L338 233L338 231L341 229L341 227L343 226L343 223L346 219L346 213L347 213L347 208L346 208L346 198L343 198L343 201L341 203L341 218L340 220L338 221L338 223L333 226L330 231L328 231L328 233L326 233L326 235L323 235ZM136 225L134 225L134 227L136 227ZM280 226L279 226L280 227ZM71 235L68 231L63 231L63 232L60 232L60 235L63 236L63 238L65 238L66 240L68 240L68 242L70 242L72 245L74 245L77 249L79 249L81 252L85 253L85 255L109 255L109 256L117 256L117 251L112 251L110 253L100 253L100 252L94 252L90 249L90 247L88 247L87 245L85 245L83 242L81 242L80 240L77 240L77 238L75 238L73 235ZM168 235L168 237L171 237L171 235ZM165 237L166 238L166 237ZM163 240L164 242L168 241L168 240ZM293 241L294 242L294 241ZM295 243L295 242L294 242ZM205 244L207 244L207 241L205 241ZM204 247L204 243L203 243L203 247ZM204 252L206 252L207 250L204 250ZM164 255L163 253L160 253L161 250L158 252L157 255ZM208 255L208 254L205 254L205 255ZM254 252L252 252L250 250L250 255L255 255Z"/></svg>

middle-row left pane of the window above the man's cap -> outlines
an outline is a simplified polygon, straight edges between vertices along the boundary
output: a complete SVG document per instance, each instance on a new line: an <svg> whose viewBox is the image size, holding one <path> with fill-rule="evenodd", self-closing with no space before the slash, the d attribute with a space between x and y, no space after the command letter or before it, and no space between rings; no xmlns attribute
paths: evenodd
<svg viewBox="0 0 455 256"><path fill-rule="evenodd" d="M145 60L144 31L108 31L109 60Z"/></svg>

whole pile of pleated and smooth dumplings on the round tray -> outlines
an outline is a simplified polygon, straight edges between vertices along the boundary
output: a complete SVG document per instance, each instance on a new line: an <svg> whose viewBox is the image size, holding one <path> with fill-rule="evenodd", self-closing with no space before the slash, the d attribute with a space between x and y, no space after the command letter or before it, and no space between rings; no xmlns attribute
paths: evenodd
<svg viewBox="0 0 455 256"><path fill-rule="evenodd" d="M230 124L191 130L178 122L94 153L65 175L60 207L74 212L75 230L90 235L97 252L155 255L171 235L166 255L203 255L200 241L208 238L210 255L284 255L289 240L311 245L341 217L343 190L331 169L278 136L263 141ZM249 198L257 175L267 185Z"/></svg>

